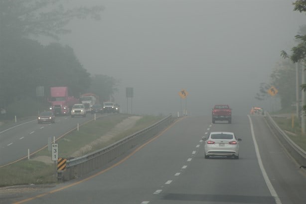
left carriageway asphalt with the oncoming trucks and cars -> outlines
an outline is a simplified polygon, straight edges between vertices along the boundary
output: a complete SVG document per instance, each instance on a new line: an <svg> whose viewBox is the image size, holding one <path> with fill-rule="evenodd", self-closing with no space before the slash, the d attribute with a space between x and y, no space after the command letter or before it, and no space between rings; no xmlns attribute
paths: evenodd
<svg viewBox="0 0 306 204"><path fill-rule="evenodd" d="M96 117L100 116L96 115ZM27 157L30 153L39 150L48 144L48 138L58 138L69 130L76 128L86 121L94 118L87 114L85 118L70 116L57 116L55 123L38 124L37 120L29 120L15 126L0 130L0 166Z"/></svg>

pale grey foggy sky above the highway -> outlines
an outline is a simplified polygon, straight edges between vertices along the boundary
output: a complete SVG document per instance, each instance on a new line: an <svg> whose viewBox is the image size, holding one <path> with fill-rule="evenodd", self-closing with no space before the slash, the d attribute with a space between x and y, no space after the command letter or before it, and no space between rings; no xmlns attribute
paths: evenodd
<svg viewBox="0 0 306 204"><path fill-rule="evenodd" d="M120 80L114 97L127 111L126 87L134 88L133 113L176 114L185 89L187 112L210 115L229 104L233 115L252 106L280 51L295 46L306 23L291 0L73 0L103 5L102 20L74 20L70 45L91 74ZM182 108L186 101L182 100ZM131 101L129 101L131 105ZM131 107L129 107L131 111Z"/></svg>

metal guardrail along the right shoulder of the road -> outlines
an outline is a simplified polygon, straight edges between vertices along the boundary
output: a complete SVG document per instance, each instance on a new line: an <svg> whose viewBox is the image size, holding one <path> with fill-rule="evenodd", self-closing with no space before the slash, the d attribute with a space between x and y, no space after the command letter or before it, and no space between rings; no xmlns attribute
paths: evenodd
<svg viewBox="0 0 306 204"><path fill-rule="evenodd" d="M306 165L306 151L299 147L295 142L293 142L288 135L276 124L271 115L265 112L265 118L268 125L274 131L276 136L279 138L286 150L291 154L291 156L297 161L299 165Z"/></svg>

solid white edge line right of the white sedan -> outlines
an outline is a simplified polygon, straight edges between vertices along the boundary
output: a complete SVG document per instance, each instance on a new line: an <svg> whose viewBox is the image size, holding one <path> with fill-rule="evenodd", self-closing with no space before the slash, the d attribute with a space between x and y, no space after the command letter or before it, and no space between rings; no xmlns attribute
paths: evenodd
<svg viewBox="0 0 306 204"><path fill-rule="evenodd" d="M262 172L262 174L263 174L263 177L264 177L264 179L265 179L265 182L266 182L266 184L267 184L267 187L268 187L268 189L269 189L269 191L270 191L271 196L274 197L275 203L276 203L276 204L282 204L282 202L281 202L279 196L277 195L275 189L273 188L273 186L272 186L272 184L271 184L271 182L270 182L270 180L269 180L269 177L268 177L268 175L267 175L267 172L266 172L266 170L265 170L265 168L264 168L263 162L262 162L261 157L260 157L260 154L259 154L258 145L257 145L256 139L255 139L255 134L254 134L254 128L253 128L252 119L251 119L250 115L248 115L248 117L249 117L249 121L250 121L250 125L251 125L251 134L252 134L252 139L253 139L253 142L254 142L256 157L257 157L257 161L258 161L260 170L261 170L261 172Z"/></svg>

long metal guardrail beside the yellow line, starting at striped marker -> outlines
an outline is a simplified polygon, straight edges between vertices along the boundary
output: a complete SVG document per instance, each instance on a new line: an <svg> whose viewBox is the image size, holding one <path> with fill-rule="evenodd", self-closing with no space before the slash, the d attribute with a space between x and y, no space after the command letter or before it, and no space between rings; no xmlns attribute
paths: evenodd
<svg viewBox="0 0 306 204"><path fill-rule="evenodd" d="M172 115L169 115L150 127L127 136L108 147L82 157L67 160L66 170L58 172L58 179L69 181L101 168L114 159L127 153L130 149L155 136L172 122L173 117Z"/></svg>

